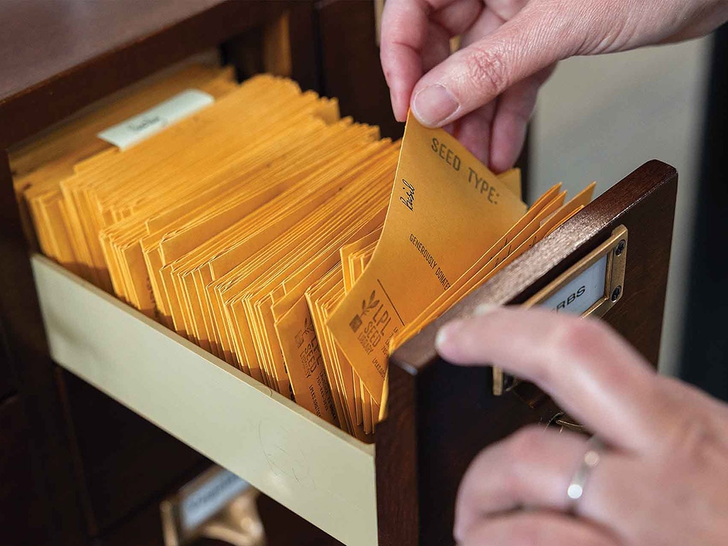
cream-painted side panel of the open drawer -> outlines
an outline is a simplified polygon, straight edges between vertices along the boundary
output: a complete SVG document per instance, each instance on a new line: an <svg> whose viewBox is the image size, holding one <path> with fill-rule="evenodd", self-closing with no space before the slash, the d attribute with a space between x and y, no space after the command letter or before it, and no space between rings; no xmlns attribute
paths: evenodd
<svg viewBox="0 0 728 546"><path fill-rule="evenodd" d="M42 256L58 364L347 546L377 543L374 448Z"/></svg>

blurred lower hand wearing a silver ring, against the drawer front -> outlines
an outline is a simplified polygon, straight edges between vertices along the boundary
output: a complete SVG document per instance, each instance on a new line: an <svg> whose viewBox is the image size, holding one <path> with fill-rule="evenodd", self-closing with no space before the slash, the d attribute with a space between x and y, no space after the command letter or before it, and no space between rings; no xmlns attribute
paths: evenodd
<svg viewBox="0 0 728 546"><path fill-rule="evenodd" d="M486 448L460 486L459 545L728 544L728 405L658 376L597 320L496 309L448 323L437 347L534 382L608 446L576 505L586 438L526 427Z"/></svg>

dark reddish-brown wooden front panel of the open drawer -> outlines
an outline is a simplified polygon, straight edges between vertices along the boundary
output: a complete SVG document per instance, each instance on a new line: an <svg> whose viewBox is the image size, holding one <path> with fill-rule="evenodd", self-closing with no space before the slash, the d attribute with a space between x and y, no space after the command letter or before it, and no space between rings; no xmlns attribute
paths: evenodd
<svg viewBox="0 0 728 546"><path fill-rule="evenodd" d="M435 336L448 320L483 303L523 304L624 226L624 290L601 320L657 365L676 191L673 167L646 163L395 351L389 417L376 431L376 477L378 488L398 496L379 499L380 546L452 544L456 493L472 459L558 412L535 387L494 396L489 369L440 359Z"/></svg>

